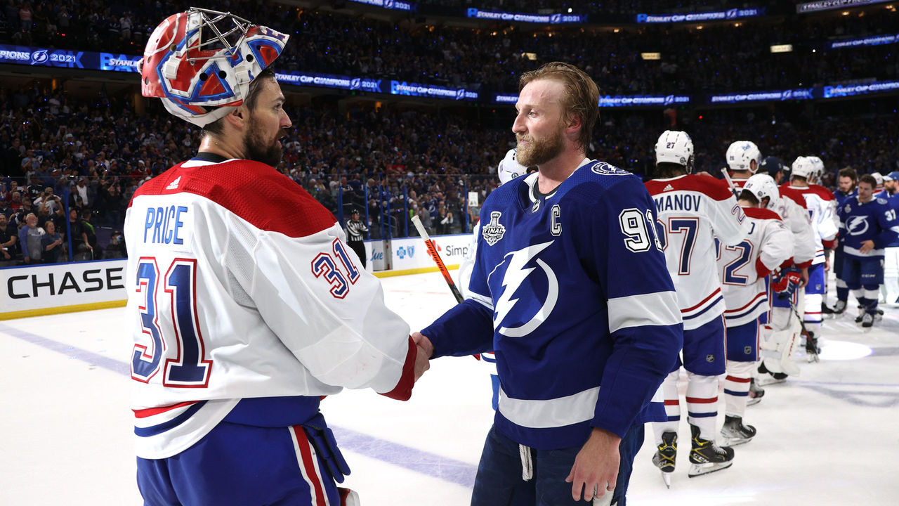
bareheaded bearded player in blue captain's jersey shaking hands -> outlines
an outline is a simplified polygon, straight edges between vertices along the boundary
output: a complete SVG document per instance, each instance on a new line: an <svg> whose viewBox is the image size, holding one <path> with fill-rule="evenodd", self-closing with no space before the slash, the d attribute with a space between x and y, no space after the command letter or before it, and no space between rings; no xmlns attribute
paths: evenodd
<svg viewBox="0 0 899 506"><path fill-rule="evenodd" d="M595 83L558 62L520 83L517 157L539 171L487 196L471 298L413 337L434 357L495 350L500 400L473 505L527 487L554 504L611 493L624 505L681 347L677 297L640 180L585 158Z"/></svg>

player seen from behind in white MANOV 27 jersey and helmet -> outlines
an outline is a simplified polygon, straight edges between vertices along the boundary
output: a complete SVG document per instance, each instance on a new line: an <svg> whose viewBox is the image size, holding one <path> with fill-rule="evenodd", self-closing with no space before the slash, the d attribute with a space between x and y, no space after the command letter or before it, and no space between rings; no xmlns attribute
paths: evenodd
<svg viewBox="0 0 899 506"><path fill-rule="evenodd" d="M752 145L752 143L748 143ZM733 148L733 146L732 146ZM728 149L743 160L747 149ZM733 151L733 152L732 152ZM732 153L731 153L732 152ZM755 169L753 151L743 160ZM730 160L730 155L728 160ZM750 163L752 162L752 163ZM687 411L692 434L690 476L733 464L734 450L715 442L718 375L725 373L725 300L715 264L715 235L725 246L743 241L749 225L731 188L711 177L692 175L693 141L683 131L664 131L655 143L655 167L660 178L646 182L663 229L668 272L674 281L683 317L683 367L690 378ZM665 378L663 391L668 420L654 423L658 451L653 462L663 473L674 471L677 429L681 420L677 381L681 361ZM667 479L666 479L667 482Z"/></svg>

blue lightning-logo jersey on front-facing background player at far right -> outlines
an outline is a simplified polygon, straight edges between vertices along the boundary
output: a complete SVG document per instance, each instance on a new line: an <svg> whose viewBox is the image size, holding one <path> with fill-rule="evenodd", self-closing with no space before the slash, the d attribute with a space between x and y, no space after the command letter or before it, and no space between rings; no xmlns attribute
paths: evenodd
<svg viewBox="0 0 899 506"><path fill-rule="evenodd" d="M843 253L852 258L883 257L884 248L895 242L899 234L896 210L886 200L874 197L866 203L849 198L840 206L840 235ZM862 253L859 248L866 240L874 241L874 249Z"/></svg>

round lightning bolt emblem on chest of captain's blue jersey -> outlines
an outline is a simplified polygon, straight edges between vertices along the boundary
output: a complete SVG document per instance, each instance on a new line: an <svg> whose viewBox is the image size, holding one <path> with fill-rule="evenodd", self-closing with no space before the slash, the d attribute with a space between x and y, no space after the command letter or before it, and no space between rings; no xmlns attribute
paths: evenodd
<svg viewBox="0 0 899 506"><path fill-rule="evenodd" d="M559 295L556 273L537 258L553 242L555 240L507 253L487 276L494 293L502 292L494 304L494 328L503 336L527 336L547 321L556 308ZM494 285L497 280L500 280L499 286ZM515 298L516 293L519 298Z"/></svg>

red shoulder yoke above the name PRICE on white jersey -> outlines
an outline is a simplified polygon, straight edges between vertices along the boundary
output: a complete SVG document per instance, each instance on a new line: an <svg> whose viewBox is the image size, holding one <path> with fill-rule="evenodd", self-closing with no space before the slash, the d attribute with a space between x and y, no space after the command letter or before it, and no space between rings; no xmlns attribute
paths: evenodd
<svg viewBox="0 0 899 506"><path fill-rule="evenodd" d="M206 197L257 229L292 238L329 229L337 222L294 180L268 165L243 159L199 167L178 164L141 185L131 203L140 195L180 193Z"/></svg>

